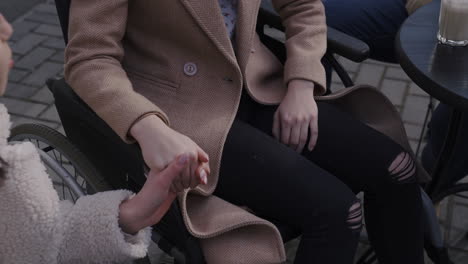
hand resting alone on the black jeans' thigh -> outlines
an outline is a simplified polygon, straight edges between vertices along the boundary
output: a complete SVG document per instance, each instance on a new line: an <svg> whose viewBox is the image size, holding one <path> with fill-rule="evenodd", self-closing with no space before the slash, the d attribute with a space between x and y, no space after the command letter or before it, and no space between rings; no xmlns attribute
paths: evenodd
<svg viewBox="0 0 468 264"><path fill-rule="evenodd" d="M318 137L318 110L314 99L314 83L293 80L273 119L273 136L301 153L308 143L312 151Z"/></svg>

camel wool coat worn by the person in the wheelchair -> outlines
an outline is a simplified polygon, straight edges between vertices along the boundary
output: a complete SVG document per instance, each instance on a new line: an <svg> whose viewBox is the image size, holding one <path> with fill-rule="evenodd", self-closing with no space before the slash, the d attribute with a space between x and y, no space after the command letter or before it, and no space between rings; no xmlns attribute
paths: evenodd
<svg viewBox="0 0 468 264"><path fill-rule="evenodd" d="M130 127L152 113L209 154L209 184L179 197L186 226L201 238L208 263L285 259L272 223L211 195L242 89L262 104L279 104L294 79L314 82L317 95L325 91L321 1L272 1L286 28L284 67L255 33L260 2L239 0L235 45L218 0L71 3L65 78L76 93L127 142L132 142ZM374 89L357 87L317 99L352 109L409 150L398 112Z"/></svg>

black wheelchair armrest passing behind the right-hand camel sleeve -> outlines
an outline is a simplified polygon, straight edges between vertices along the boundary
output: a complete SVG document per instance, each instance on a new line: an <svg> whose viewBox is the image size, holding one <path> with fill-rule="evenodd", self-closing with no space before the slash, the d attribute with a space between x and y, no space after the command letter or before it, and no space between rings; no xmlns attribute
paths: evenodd
<svg viewBox="0 0 468 264"><path fill-rule="evenodd" d="M269 25L284 31L280 17L274 10L271 0L262 0L258 21L260 26ZM328 52L338 54L354 62L362 62L369 57L369 46L363 41L334 28L327 28Z"/></svg>

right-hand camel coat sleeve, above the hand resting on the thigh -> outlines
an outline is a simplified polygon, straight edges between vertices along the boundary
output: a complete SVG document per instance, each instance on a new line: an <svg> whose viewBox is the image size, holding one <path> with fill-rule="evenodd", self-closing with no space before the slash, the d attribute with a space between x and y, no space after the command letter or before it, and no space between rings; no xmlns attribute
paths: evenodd
<svg viewBox="0 0 468 264"><path fill-rule="evenodd" d="M321 59L327 49L325 9L321 0L272 0L286 33L287 60L284 80L312 81L316 94L325 92Z"/></svg>

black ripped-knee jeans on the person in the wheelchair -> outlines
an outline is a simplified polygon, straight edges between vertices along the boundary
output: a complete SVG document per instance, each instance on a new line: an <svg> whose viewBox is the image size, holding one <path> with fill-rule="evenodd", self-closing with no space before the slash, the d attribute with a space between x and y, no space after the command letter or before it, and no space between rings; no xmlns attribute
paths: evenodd
<svg viewBox="0 0 468 264"><path fill-rule="evenodd" d="M299 228L295 263L352 263L359 208L380 263L422 264L421 196L412 160L389 167L404 150L337 108L318 103L319 137L302 155L272 137L276 106L245 92L228 134L215 194L260 217ZM400 176L399 176L400 175ZM404 178L404 179L403 179Z"/></svg>

